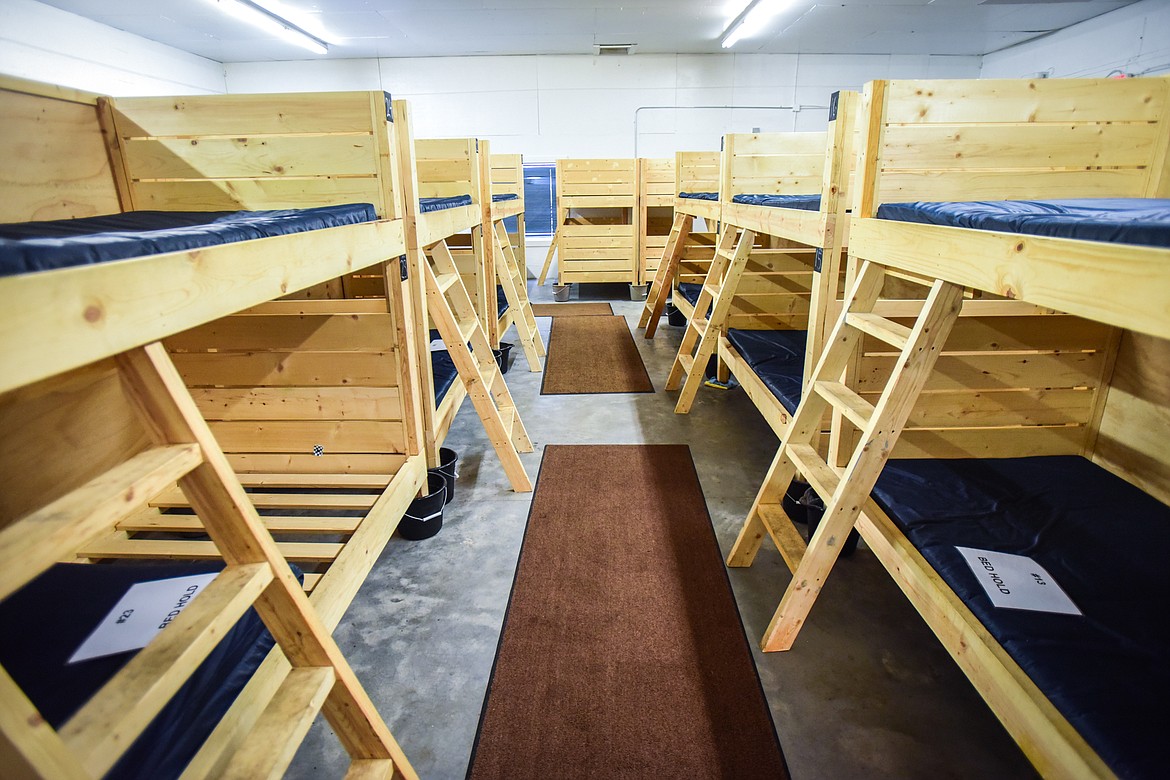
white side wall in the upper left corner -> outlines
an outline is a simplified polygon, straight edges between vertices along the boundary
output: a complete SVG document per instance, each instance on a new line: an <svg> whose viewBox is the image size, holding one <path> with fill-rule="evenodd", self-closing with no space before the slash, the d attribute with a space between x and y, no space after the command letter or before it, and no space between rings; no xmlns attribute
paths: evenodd
<svg viewBox="0 0 1170 780"><path fill-rule="evenodd" d="M113 96L227 89L219 62L33 0L0 1L0 74Z"/></svg>

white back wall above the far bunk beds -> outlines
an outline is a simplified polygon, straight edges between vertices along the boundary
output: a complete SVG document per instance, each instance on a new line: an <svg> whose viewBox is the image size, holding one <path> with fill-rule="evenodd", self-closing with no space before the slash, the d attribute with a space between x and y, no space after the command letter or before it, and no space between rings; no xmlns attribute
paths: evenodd
<svg viewBox="0 0 1170 780"><path fill-rule="evenodd" d="M476 136L496 152L667 157L724 132L823 127L830 95L870 78L975 78L979 57L534 55L228 63L230 92L384 89L411 101L417 137ZM806 106L696 110L697 105ZM819 108L808 108L819 106Z"/></svg>

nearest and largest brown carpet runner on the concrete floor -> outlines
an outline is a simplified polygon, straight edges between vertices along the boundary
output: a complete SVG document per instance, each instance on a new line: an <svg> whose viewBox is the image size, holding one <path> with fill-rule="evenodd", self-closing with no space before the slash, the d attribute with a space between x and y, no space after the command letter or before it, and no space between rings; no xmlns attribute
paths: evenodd
<svg viewBox="0 0 1170 780"><path fill-rule="evenodd" d="M690 450L550 444L468 778L787 778Z"/></svg>

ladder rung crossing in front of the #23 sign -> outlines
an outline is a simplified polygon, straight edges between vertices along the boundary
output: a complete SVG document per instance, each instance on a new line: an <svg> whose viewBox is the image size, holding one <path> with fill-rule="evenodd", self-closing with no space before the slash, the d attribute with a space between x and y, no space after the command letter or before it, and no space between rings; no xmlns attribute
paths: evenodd
<svg viewBox="0 0 1170 780"><path fill-rule="evenodd" d="M225 568L69 719L61 736L95 776L117 762L271 581L268 564Z"/></svg>

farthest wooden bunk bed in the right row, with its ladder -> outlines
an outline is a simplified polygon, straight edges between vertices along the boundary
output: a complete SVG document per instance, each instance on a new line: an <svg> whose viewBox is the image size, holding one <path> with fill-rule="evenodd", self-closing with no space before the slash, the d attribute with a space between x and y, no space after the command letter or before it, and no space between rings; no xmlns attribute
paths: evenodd
<svg viewBox="0 0 1170 780"><path fill-rule="evenodd" d="M674 200L670 232L653 267L653 281L638 326L654 338L669 298L690 319L694 309L679 284L701 285L715 256L720 225L720 152L676 152L674 157ZM696 229L695 219L703 220ZM644 281L649 278L644 275Z"/></svg>

